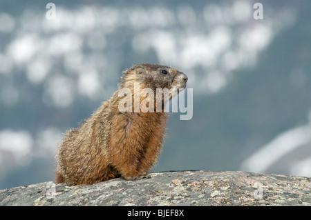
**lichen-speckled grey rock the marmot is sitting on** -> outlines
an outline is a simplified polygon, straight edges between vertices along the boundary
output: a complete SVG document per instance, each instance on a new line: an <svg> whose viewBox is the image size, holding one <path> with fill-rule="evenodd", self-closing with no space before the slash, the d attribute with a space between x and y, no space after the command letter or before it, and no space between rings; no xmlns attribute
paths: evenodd
<svg viewBox="0 0 311 220"><path fill-rule="evenodd" d="M309 177L252 172L151 173L90 186L53 182L0 190L0 206L311 206Z"/></svg>

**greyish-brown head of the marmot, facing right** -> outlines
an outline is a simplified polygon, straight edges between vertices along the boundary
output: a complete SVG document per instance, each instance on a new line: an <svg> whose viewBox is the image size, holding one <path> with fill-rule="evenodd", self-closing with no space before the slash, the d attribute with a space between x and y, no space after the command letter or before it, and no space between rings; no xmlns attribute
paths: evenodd
<svg viewBox="0 0 311 220"><path fill-rule="evenodd" d="M179 88L186 87L187 80L186 74L169 66L142 63L123 72L120 88L133 88L133 83L139 82L142 88L151 88L154 92L157 88L178 92Z"/></svg>

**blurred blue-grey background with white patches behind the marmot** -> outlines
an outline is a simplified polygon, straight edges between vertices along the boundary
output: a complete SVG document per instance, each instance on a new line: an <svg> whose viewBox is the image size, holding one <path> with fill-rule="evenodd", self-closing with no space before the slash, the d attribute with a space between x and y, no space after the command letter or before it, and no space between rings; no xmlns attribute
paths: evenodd
<svg viewBox="0 0 311 220"><path fill-rule="evenodd" d="M263 19L254 19L256 2ZM137 63L185 72L194 92L191 120L170 113L152 172L311 177L310 8L308 0L1 0L0 189L53 181L64 132Z"/></svg>

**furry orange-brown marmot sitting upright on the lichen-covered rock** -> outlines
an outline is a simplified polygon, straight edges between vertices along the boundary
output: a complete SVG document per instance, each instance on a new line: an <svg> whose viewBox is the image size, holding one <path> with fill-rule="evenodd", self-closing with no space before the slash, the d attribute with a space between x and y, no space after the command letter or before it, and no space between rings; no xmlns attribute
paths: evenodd
<svg viewBox="0 0 311 220"><path fill-rule="evenodd" d="M164 105L160 112L156 111L156 101L154 112L135 112L134 105L121 112L120 101L124 97L120 97L120 90L128 88L133 92L128 100L134 101L134 83L139 83L139 92L151 88L156 94L157 88L185 88L187 76L168 66L139 64L125 70L121 79L111 99L104 101L79 128L65 134L56 155L57 183L79 185L115 177L150 178L147 172L160 154L167 113ZM140 95L138 100L142 103L144 97Z"/></svg>

